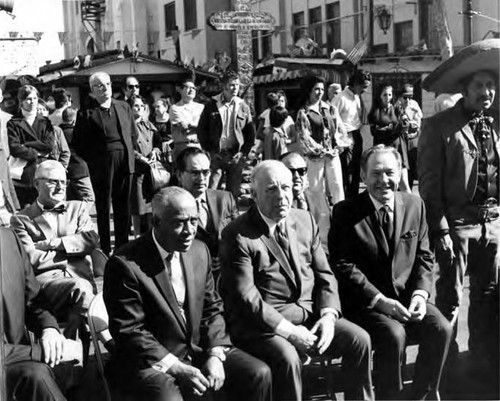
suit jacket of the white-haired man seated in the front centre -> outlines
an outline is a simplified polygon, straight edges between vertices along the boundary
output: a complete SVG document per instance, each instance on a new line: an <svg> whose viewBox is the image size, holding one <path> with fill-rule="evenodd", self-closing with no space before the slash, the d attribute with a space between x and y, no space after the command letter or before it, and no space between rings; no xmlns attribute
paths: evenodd
<svg viewBox="0 0 500 401"><path fill-rule="evenodd" d="M321 246L314 218L291 209L286 218L291 260L256 206L222 232L222 294L231 336L251 341L274 333L283 318L340 311L337 280ZM298 278L297 278L298 277Z"/></svg>

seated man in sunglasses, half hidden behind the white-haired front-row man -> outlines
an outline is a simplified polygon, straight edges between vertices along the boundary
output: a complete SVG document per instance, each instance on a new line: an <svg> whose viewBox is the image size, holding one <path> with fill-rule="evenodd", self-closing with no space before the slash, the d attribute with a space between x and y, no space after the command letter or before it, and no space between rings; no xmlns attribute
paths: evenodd
<svg viewBox="0 0 500 401"><path fill-rule="evenodd" d="M318 225L321 245L328 256L328 232L330 231L330 207L324 192L312 191L307 178L307 163L298 153L283 155L281 161L293 177L293 208L309 210Z"/></svg>

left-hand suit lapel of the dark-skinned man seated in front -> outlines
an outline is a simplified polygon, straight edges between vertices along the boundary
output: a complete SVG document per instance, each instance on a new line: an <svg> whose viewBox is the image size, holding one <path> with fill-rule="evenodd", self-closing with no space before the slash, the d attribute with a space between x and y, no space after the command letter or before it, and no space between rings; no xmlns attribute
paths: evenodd
<svg viewBox="0 0 500 401"><path fill-rule="evenodd" d="M167 301L167 304L172 309L173 314L175 315L179 326L186 332L187 327L184 318L181 315L181 311L179 309L179 305L177 304L177 298L175 297L174 288L172 287L172 283L170 281L169 272L165 266L163 260L161 260L160 253L156 248L156 245L153 241L152 234L148 234L148 243L149 246L145 247L145 255L148 259L153 258L151 261L151 266L154 266L155 271L153 271L153 280L162 293L163 297ZM153 256L154 255L154 256Z"/></svg>

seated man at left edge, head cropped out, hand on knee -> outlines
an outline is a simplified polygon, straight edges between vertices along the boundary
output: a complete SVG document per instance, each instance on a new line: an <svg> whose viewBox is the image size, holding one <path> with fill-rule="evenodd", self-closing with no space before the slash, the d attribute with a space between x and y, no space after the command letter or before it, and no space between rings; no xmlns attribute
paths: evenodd
<svg viewBox="0 0 500 401"><path fill-rule="evenodd" d="M82 345L59 333L56 319L42 307L40 285L24 248L9 229L0 227L2 319L8 400L63 401L51 368L82 359ZM26 329L40 342L32 344Z"/></svg>

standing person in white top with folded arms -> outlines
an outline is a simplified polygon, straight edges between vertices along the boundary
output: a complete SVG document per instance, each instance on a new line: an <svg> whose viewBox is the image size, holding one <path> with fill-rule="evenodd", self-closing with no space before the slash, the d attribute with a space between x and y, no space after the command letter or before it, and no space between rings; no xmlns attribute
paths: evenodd
<svg viewBox="0 0 500 401"><path fill-rule="evenodd" d="M193 78L183 79L177 86L177 92L181 95L181 100L170 107L174 160L187 146L199 146L196 130L204 107L194 101L196 86Z"/></svg>

